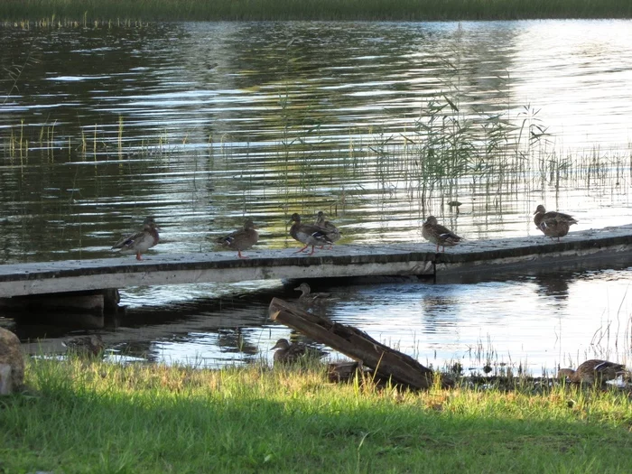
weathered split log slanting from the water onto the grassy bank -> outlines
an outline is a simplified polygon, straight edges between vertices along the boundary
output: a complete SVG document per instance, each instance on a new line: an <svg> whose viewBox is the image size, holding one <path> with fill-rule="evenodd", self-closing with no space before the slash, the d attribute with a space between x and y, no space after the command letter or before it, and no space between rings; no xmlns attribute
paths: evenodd
<svg viewBox="0 0 632 474"><path fill-rule="evenodd" d="M353 326L329 321L279 298L270 302L270 318L372 368L380 378L417 389L432 386L430 368Z"/></svg>

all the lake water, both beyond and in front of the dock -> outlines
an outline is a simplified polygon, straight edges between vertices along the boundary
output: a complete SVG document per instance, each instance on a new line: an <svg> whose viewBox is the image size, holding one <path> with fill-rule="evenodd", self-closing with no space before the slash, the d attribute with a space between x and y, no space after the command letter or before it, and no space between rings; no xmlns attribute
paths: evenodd
<svg viewBox="0 0 632 474"><path fill-rule="evenodd" d="M430 214L470 240L536 235L539 203L571 212L573 230L629 223L630 21L0 35L13 71L0 106L0 262L113 256L120 234L150 214L161 254L212 249L245 216L260 228L258 248L293 248L289 215L321 209L341 228L339 245L427 246ZM467 366L482 351L537 373L627 357L628 266L336 286L320 310L424 363L467 354ZM269 358L289 335L266 320L274 295L295 297L281 282L130 289L125 319L101 332L130 358ZM81 332L0 324L53 349Z"/></svg>

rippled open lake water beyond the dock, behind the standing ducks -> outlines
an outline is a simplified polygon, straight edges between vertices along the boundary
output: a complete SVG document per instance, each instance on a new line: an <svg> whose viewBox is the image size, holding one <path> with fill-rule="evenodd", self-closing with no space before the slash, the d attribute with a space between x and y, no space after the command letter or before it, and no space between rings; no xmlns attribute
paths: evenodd
<svg viewBox="0 0 632 474"><path fill-rule="evenodd" d="M38 61L0 114L0 259L108 256L146 215L164 223L163 252L208 249L209 234L244 215L260 221L260 246L286 246L294 210L328 211L343 242L416 241L429 212L454 217L453 199L463 205L451 227L468 238L532 232L528 215L541 201L577 211L579 228L627 222L629 179L611 172L628 166L615 156L628 155L628 26L164 23L46 37L6 29L0 62ZM428 140L414 128L428 101L445 113L443 97L455 94L462 116L451 126L545 129L538 150L516 151L520 164L509 165L494 158L501 141L491 134L459 154L471 175L441 184L428 169L420 176L432 149L420 148ZM504 113L507 123L489 118ZM562 156L542 155L524 182L508 178L552 146ZM592 180L573 173L581 158L564 156L595 148L607 159L593 163Z"/></svg>

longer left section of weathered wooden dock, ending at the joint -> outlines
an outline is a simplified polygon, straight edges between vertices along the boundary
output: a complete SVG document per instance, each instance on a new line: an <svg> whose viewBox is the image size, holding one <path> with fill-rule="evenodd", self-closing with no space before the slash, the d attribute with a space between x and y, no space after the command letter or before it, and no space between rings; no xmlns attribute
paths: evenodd
<svg viewBox="0 0 632 474"><path fill-rule="evenodd" d="M384 274L432 274L428 252L378 246L339 246L314 256L294 249L66 260L0 265L0 298L23 294L124 288L126 286L240 282Z"/></svg>

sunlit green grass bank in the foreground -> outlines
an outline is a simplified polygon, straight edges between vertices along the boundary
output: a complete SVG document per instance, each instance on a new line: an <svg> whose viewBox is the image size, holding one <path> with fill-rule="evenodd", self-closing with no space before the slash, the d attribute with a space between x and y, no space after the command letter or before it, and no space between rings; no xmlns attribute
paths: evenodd
<svg viewBox="0 0 632 474"><path fill-rule="evenodd" d="M517 377L411 392L320 367L27 361L2 472L627 472L626 391Z"/></svg>

